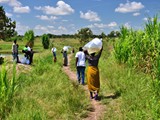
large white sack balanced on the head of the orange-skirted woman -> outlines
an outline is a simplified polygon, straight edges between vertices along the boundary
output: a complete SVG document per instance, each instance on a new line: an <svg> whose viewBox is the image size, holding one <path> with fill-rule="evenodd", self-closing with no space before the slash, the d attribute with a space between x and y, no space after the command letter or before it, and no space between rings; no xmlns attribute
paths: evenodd
<svg viewBox="0 0 160 120"><path fill-rule="evenodd" d="M83 50L87 50L89 54L100 51L102 48L102 39L94 38L90 42L88 42Z"/></svg>

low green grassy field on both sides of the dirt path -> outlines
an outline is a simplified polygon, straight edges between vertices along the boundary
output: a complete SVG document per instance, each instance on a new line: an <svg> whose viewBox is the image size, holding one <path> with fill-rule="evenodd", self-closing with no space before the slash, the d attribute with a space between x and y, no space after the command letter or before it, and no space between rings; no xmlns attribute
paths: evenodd
<svg viewBox="0 0 160 120"><path fill-rule="evenodd" d="M18 42L19 45L24 45ZM114 57L112 41L104 39L104 50L99 62L101 102L106 106L104 120L151 120L158 118L153 99L152 78L125 64L118 64ZM2 50L9 51L12 43L3 43ZM19 65L16 74L14 104L6 113L8 120L81 120L90 109L89 97L81 87L74 86L62 71L61 49L74 46L75 52L82 45L75 39L51 39L57 48L57 63L53 63L50 49L43 50L36 40L33 65ZM70 53L70 51L68 52ZM12 65L11 62L7 63ZM75 69L72 56L71 68ZM11 72L11 71L8 71Z"/></svg>

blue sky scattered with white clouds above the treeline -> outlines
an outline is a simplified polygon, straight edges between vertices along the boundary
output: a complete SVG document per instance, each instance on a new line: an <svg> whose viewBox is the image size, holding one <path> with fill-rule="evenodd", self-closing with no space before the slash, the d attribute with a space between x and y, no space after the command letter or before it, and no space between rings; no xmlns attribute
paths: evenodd
<svg viewBox="0 0 160 120"><path fill-rule="evenodd" d="M120 30L122 25L143 29L148 17L160 12L159 0L0 0L6 15L24 35L75 34L90 28L95 35Z"/></svg>

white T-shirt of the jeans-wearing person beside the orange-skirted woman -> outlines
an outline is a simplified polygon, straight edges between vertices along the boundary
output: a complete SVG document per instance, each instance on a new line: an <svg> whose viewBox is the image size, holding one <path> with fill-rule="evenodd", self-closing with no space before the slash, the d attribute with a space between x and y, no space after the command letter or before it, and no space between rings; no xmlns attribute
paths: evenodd
<svg viewBox="0 0 160 120"><path fill-rule="evenodd" d="M77 66L86 66L85 54L83 51L77 52L75 57L78 58Z"/></svg>

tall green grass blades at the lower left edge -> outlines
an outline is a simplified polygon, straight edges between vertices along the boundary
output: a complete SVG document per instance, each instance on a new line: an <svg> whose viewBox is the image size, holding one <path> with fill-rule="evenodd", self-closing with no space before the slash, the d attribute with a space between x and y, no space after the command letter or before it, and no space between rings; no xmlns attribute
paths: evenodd
<svg viewBox="0 0 160 120"><path fill-rule="evenodd" d="M0 119L4 119L10 112L13 105L13 97L15 93L15 75L16 66L13 67L13 77L8 79L7 70L5 65L2 66L0 71Z"/></svg>

